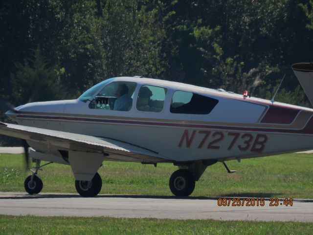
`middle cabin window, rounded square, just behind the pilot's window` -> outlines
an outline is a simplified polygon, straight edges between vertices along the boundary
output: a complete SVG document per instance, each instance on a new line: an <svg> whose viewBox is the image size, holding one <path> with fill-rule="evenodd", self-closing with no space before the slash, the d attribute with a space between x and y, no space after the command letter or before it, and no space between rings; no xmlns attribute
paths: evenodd
<svg viewBox="0 0 313 235"><path fill-rule="evenodd" d="M136 108L138 111L156 112L163 110L167 89L163 87L142 86L138 92Z"/></svg>

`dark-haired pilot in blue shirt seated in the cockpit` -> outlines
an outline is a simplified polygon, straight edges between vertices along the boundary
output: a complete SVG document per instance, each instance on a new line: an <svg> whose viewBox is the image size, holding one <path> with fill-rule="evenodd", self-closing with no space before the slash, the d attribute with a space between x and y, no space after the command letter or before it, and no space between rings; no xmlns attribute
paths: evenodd
<svg viewBox="0 0 313 235"><path fill-rule="evenodd" d="M133 99L128 96L128 86L120 84L115 92L117 99L114 102L113 110L129 111L132 107Z"/></svg>

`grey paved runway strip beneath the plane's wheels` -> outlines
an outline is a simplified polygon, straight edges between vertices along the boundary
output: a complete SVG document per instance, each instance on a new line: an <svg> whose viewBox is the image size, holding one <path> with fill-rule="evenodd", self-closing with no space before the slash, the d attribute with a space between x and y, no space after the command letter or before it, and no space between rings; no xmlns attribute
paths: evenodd
<svg viewBox="0 0 313 235"><path fill-rule="evenodd" d="M219 207L218 198L0 192L0 214L38 216L111 216L129 218L217 219L313 222L313 199L293 199L292 206Z"/></svg>

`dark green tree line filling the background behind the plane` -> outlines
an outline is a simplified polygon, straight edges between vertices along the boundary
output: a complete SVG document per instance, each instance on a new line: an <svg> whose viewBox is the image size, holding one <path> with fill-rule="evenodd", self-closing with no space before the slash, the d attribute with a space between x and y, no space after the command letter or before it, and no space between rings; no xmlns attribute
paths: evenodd
<svg viewBox="0 0 313 235"><path fill-rule="evenodd" d="M77 98L141 75L308 105L313 0L2 0L0 97ZM3 120L4 116L2 116Z"/></svg>

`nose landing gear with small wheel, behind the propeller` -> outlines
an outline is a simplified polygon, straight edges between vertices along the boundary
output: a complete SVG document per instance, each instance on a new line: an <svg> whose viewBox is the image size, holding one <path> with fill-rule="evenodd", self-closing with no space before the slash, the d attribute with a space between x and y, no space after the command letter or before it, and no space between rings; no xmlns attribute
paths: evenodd
<svg viewBox="0 0 313 235"><path fill-rule="evenodd" d="M32 174L28 176L24 181L25 191L28 192L29 194L40 193L44 187L43 181L37 176L37 173L38 173L38 170L42 170L41 167L47 164L51 164L51 163L40 165L40 162L41 161L39 159L36 159L36 166L34 167L35 170L32 170L31 168L29 168Z"/></svg>

